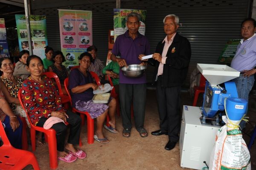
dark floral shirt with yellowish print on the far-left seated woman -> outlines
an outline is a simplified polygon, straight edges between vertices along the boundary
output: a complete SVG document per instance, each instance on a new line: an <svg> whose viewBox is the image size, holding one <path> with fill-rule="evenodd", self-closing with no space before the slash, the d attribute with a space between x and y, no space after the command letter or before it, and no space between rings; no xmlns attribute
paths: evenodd
<svg viewBox="0 0 256 170"><path fill-rule="evenodd" d="M3 81L3 83L6 85L8 92L13 98L18 98L18 91L21 89L22 86L22 78L20 76L14 76L15 80L17 81L17 84L14 82L10 81L8 78L4 78L3 76L0 77ZM10 107L12 110L16 109L17 104L11 103Z"/></svg>

